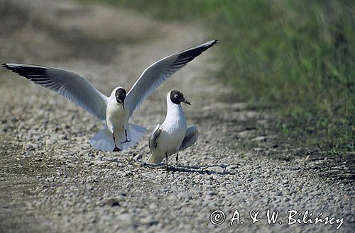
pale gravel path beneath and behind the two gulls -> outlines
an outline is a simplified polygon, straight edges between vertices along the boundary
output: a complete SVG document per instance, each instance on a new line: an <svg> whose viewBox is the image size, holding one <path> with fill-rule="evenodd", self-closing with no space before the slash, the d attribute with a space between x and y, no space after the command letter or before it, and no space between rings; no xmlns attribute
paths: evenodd
<svg viewBox="0 0 355 233"><path fill-rule="evenodd" d="M198 23L72 1L21 2L0 0L0 61L69 69L106 94L129 88L155 60L214 39ZM143 166L148 135L129 152L98 152L87 141L99 120L1 69L0 232L335 232L340 225L288 225L289 210L300 220L306 210L312 219L320 212L344 218L337 232L353 232L354 159L288 149L260 133L270 118L230 98L215 76L217 50L165 82L131 121L152 130L165 118L165 94L185 94L187 122L198 125L200 138L180 154L177 172ZM255 147L241 150L241 139ZM236 209L239 225L231 226ZM210 222L214 210L224 211L222 225ZM251 223L250 210L260 221ZM267 210L279 210L275 224Z"/></svg>

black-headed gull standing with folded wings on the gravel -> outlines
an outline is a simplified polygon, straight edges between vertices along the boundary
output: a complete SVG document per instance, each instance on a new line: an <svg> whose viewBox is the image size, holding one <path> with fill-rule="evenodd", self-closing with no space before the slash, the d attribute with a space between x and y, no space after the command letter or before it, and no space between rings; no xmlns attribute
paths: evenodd
<svg viewBox="0 0 355 233"><path fill-rule="evenodd" d="M196 125L187 127L181 103L191 105L180 91L170 91L166 95L167 112L162 125L156 125L149 137L151 157L149 164L159 164L165 157L168 170L168 156L176 153L176 169L178 170L178 153L197 142L198 130Z"/></svg>

